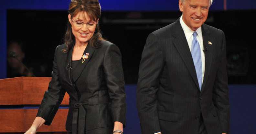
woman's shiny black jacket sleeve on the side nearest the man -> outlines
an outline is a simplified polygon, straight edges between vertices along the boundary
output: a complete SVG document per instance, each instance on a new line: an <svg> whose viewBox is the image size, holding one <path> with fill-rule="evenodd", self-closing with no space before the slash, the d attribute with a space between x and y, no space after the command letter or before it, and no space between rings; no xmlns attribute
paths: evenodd
<svg viewBox="0 0 256 134"><path fill-rule="evenodd" d="M124 77L122 56L115 44L107 47L103 62L108 92L111 100L113 122L119 121L125 127L126 94L124 91Z"/></svg>

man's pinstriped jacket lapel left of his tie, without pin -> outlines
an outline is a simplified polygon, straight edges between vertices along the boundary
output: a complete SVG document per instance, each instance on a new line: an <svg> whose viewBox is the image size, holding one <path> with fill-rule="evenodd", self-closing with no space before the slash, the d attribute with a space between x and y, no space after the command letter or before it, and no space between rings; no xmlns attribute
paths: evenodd
<svg viewBox="0 0 256 134"><path fill-rule="evenodd" d="M191 77L193 78L193 80L196 83L197 88L199 90L199 84L198 84L198 81L197 81L196 69L195 69L195 66L194 66L194 62L193 62L193 59L192 59L190 49L189 49L188 44L187 44L186 36L185 36L184 31L181 27L179 19L175 22L173 32L174 32L173 36L175 37L174 45L175 45L176 49L178 50L180 56L182 57L183 61L185 62L186 66L187 66L187 69L190 72Z"/></svg>

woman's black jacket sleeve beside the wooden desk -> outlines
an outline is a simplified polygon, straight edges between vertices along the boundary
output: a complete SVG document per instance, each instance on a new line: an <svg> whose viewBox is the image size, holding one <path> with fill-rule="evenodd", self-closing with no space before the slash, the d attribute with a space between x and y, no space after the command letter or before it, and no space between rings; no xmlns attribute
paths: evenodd
<svg viewBox="0 0 256 134"><path fill-rule="evenodd" d="M58 46L59 47L59 46ZM52 79L49 83L48 90L44 94L44 98L41 102L41 105L38 109L37 116L42 117L46 122L45 125L50 125L59 105L63 100L63 97L66 93L65 90L61 88L59 83L59 72L57 68L57 52L58 47L55 50L53 68L52 68Z"/></svg>

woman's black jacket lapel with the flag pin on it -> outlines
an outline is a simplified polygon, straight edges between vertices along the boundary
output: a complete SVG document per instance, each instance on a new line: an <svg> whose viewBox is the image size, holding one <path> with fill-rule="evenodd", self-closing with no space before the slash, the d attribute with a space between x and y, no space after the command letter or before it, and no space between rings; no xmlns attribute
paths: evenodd
<svg viewBox="0 0 256 134"><path fill-rule="evenodd" d="M79 62L79 64L77 65L77 67L75 68L76 71L74 71L74 81L77 81L77 79L80 77L83 69L85 68L85 66L87 65L87 63L90 61L93 52L95 51L94 48L92 48L89 44L87 45L86 49L84 50L83 55L88 55L88 58L85 58L85 61L82 63L82 59L81 62Z"/></svg>

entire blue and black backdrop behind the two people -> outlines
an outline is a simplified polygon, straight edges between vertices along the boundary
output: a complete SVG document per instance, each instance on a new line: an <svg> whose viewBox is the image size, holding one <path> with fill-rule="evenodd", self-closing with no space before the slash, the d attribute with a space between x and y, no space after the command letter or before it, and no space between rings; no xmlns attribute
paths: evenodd
<svg viewBox="0 0 256 134"><path fill-rule="evenodd" d="M9 0L0 5L0 78L6 78L6 46L12 39L23 41L24 63L35 75L50 77L55 47L63 43L69 1ZM100 2L102 33L120 48L123 55L125 82L128 84L125 131L139 134L135 84L141 53L148 34L176 21L181 15L178 0ZM253 107L256 101L255 5L255 0L215 0L206 22L226 34L233 134L256 131L256 109Z"/></svg>

